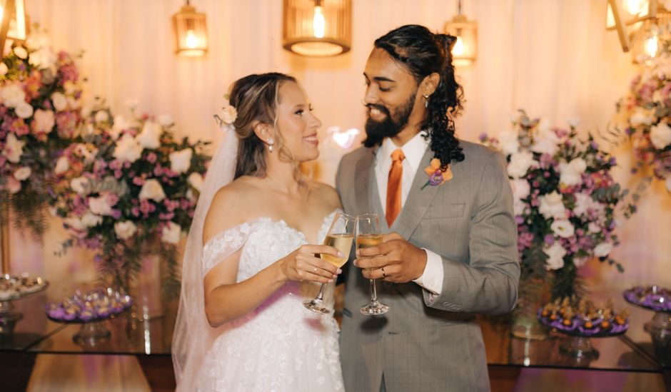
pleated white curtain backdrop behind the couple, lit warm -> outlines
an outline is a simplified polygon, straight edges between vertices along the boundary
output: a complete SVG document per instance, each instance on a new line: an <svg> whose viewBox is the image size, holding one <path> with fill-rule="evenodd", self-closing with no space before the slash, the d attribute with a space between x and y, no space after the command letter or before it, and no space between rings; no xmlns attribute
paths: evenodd
<svg viewBox="0 0 671 392"><path fill-rule="evenodd" d="M171 16L183 0L26 0L31 22L50 33L54 48L84 51L79 61L88 78L86 99L106 98L115 113L139 101L141 112L170 114L178 135L218 142L213 113L231 82L249 73L281 71L296 76L323 121L321 136L337 125L363 129L363 68L373 40L402 24L434 31L456 13L456 0L353 0L352 51L333 58L305 58L281 47L282 1L192 0L208 22L209 51L203 58L173 54ZM475 140L509 127L510 114L529 115L565 126L582 119L580 130L605 130L615 101L627 91L636 68L622 53L615 32L605 30L605 0L464 0L464 13L478 21L478 59L458 68L465 110L458 135ZM333 183L344 153L323 143L319 173ZM633 183L630 153L620 150L617 172ZM614 256L626 272L590 267L605 286L658 283L671 286L671 195L655 182L635 218L622 228ZM21 233L12 235L14 271L43 274L64 291L94 273L90 255L53 250L64 239L52 222L41 251L29 249ZM77 257L79 255L79 257Z"/></svg>

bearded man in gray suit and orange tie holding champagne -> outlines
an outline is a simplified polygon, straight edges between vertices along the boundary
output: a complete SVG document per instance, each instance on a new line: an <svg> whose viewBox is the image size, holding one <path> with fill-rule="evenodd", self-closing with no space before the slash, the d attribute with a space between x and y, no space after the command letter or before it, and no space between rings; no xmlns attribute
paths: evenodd
<svg viewBox="0 0 671 392"><path fill-rule="evenodd" d="M513 197L499 153L458 140L455 38L402 26L365 65L364 147L340 161L345 212L380 215L383 244L358 251L345 284L340 358L347 391L487 391L475 314L518 294ZM426 168L426 170L425 170ZM368 279L386 314L365 316Z"/></svg>

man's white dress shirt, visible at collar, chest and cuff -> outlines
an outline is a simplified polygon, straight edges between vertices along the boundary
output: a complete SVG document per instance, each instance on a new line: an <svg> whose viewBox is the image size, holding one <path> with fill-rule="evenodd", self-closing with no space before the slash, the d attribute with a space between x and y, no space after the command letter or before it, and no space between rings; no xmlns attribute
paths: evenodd
<svg viewBox="0 0 671 392"><path fill-rule="evenodd" d="M403 160L403 178L401 179L400 207L403 211L405 200L408 200L410 186L413 185L415 173L420 169L419 165L422 157L428 148L429 142L423 138L425 132L420 132L412 139L408 140L403 146L398 147L390 138L385 138L382 145L378 148L375 155L375 177L378 180L378 191L380 192L380 202L382 209L386 214L387 210L387 182L389 178L389 169L391 167L391 153L397 148L403 150L405 159ZM421 170L424 170L421 168ZM399 214L400 216L400 214ZM382 217L384 219L384 217ZM396 217L398 219L398 217ZM433 294L440 294L443 290L443 259L434 252L424 249L426 252L426 267L422 276L413 282L419 284Z"/></svg>

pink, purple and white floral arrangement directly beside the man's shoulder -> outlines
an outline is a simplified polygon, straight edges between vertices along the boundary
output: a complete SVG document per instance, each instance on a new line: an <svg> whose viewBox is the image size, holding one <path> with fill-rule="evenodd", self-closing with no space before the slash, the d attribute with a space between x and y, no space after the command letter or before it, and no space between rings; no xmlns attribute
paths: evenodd
<svg viewBox="0 0 671 392"><path fill-rule="evenodd" d="M480 136L508 160L523 282L552 278L553 298L575 294L577 269L589 259L622 271L609 257L618 243L616 212L635 212L610 174L615 158L591 135L580 140L575 126L552 128L520 110L513 130Z"/></svg>

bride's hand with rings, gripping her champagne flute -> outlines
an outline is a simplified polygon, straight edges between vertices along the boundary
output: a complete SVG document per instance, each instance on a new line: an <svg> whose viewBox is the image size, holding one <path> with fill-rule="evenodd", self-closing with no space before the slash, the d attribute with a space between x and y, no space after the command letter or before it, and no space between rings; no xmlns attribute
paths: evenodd
<svg viewBox="0 0 671 392"><path fill-rule="evenodd" d="M288 280L309 280L330 283L342 272L333 264L323 261L319 254L331 254L333 257L345 257L338 249L328 245L302 245L280 260L283 275Z"/></svg>

